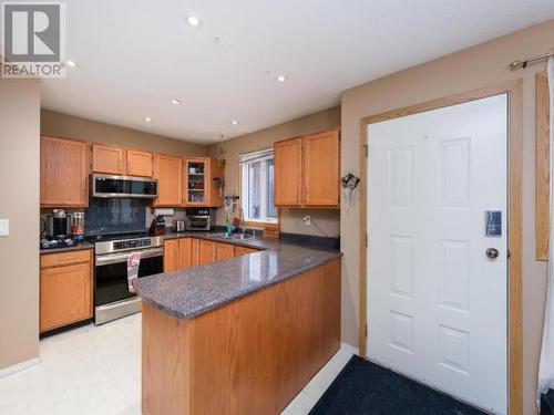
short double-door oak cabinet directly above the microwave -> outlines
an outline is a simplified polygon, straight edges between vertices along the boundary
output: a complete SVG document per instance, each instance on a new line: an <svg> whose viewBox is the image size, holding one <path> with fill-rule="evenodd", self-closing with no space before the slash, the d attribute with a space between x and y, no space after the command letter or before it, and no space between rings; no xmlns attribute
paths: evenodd
<svg viewBox="0 0 554 415"><path fill-rule="evenodd" d="M92 172L152 177L153 155L150 152L93 144Z"/></svg>

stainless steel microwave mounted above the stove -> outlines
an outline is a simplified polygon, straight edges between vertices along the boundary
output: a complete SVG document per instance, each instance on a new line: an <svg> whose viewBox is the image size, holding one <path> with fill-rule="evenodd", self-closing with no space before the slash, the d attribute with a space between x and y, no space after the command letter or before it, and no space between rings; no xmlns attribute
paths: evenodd
<svg viewBox="0 0 554 415"><path fill-rule="evenodd" d="M157 197L157 180L150 177L91 174L91 196L154 199Z"/></svg>

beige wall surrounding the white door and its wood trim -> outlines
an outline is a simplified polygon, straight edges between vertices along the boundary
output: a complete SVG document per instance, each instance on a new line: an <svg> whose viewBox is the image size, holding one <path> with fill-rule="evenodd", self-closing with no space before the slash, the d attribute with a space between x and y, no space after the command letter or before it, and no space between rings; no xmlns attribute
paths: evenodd
<svg viewBox="0 0 554 415"><path fill-rule="evenodd" d="M534 393L542 336L546 263L535 261L534 231L534 75L545 64L511 71L511 61L553 46L554 20L343 92L342 170L359 174L360 118L505 80L524 81L523 118L523 372L524 414L534 414ZM359 198L359 193L357 193ZM358 344L359 199L341 214L345 252L342 338Z"/></svg>

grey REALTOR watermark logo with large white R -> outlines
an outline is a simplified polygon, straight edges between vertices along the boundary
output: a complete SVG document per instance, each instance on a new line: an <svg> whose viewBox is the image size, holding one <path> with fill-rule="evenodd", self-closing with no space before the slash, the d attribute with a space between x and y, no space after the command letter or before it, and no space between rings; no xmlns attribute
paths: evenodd
<svg viewBox="0 0 554 415"><path fill-rule="evenodd" d="M65 77L65 3L2 2L2 77Z"/></svg>

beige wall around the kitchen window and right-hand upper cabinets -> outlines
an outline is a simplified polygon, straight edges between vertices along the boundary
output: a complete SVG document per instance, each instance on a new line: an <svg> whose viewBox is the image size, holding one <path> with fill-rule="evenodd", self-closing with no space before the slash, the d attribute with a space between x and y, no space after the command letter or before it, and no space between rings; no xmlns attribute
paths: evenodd
<svg viewBox="0 0 554 415"><path fill-rule="evenodd" d="M238 195L238 155L273 147L280 139L293 138L299 135L316 133L340 126L340 107L321 111L284 124L260 129L255 133L242 135L229 139L225 144L225 193ZM219 146L212 145L209 154L219 155ZM301 220L305 215L310 215L316 226L306 227ZM281 209L283 232L305 234L316 236L336 236L340 232L340 212L338 209ZM219 209L217 222L224 225L223 211Z"/></svg>

